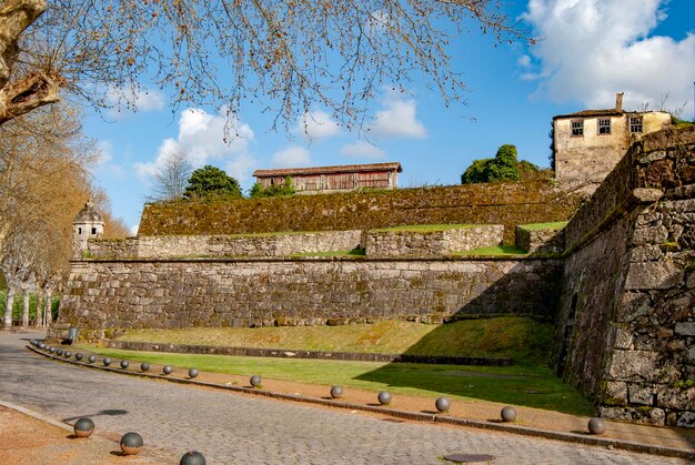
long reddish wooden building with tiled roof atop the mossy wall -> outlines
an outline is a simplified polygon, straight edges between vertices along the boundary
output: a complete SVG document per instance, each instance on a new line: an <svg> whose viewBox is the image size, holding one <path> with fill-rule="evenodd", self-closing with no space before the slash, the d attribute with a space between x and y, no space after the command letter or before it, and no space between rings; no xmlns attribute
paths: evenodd
<svg viewBox="0 0 695 465"><path fill-rule="evenodd" d="M355 189L396 189L401 163L346 164L340 166L256 170L253 175L264 189L281 185L289 176L298 193L340 192Z"/></svg>

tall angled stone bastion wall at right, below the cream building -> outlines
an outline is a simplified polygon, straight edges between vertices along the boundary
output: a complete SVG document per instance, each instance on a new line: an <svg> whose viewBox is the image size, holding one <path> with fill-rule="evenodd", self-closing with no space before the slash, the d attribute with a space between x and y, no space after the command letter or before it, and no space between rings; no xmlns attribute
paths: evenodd
<svg viewBox="0 0 695 465"><path fill-rule="evenodd" d="M554 365L605 417L695 425L695 128L634 144L564 229Z"/></svg>

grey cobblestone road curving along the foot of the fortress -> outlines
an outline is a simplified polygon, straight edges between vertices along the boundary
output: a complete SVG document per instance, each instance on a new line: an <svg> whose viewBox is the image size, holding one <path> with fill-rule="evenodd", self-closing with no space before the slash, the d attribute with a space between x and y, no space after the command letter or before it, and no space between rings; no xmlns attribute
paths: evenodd
<svg viewBox="0 0 695 465"><path fill-rule="evenodd" d="M188 449L211 464L441 465L456 453L492 454L495 464L686 463L102 373L42 358L24 348L30 337L0 333L1 400L68 423L90 416L112 437L137 431L169 463Z"/></svg>

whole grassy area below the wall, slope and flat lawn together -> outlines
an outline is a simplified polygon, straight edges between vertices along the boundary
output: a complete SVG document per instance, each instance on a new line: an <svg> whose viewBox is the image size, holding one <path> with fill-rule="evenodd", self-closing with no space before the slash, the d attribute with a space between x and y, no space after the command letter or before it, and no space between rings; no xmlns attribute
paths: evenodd
<svg viewBox="0 0 695 465"><path fill-rule="evenodd" d="M129 352L83 346L128 358L201 371L367 391L476 398L572 414L591 414L588 403L546 366L553 326L524 317L462 320L442 325L403 321L344 326L141 330L122 341L248 346L281 350L512 357L513 366L238 357Z"/></svg>

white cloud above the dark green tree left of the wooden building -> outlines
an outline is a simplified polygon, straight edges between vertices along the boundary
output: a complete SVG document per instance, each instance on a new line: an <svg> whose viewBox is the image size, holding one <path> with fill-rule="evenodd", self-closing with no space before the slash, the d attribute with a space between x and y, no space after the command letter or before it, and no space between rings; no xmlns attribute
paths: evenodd
<svg viewBox="0 0 695 465"><path fill-rule="evenodd" d="M187 109L179 119L177 139L164 139L154 161L135 163L135 174L140 179L151 176L175 152L187 153L193 168L211 162L240 168L244 163L248 164L240 160L251 159L248 150L253 137L251 128L239 120L232 118L228 121L224 114L210 114L203 110Z"/></svg>

